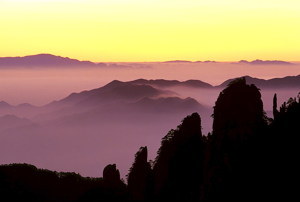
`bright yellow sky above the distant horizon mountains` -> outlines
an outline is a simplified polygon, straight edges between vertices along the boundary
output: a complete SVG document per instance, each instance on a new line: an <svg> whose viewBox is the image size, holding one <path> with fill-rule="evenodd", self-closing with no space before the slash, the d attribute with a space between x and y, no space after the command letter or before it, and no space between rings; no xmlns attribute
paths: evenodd
<svg viewBox="0 0 300 202"><path fill-rule="evenodd" d="M300 60L299 0L0 1L0 57Z"/></svg>

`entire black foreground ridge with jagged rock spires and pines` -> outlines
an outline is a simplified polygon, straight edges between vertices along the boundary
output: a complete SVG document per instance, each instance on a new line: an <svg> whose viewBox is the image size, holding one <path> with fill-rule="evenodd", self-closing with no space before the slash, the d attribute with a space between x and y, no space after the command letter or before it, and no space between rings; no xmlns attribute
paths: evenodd
<svg viewBox="0 0 300 202"><path fill-rule="evenodd" d="M274 120L265 116L259 89L238 78L220 92L212 134L201 132L193 113L162 138L154 161L140 147L127 175L116 164L103 178L0 166L0 194L11 201L291 201L296 197L299 97L290 98Z"/></svg>

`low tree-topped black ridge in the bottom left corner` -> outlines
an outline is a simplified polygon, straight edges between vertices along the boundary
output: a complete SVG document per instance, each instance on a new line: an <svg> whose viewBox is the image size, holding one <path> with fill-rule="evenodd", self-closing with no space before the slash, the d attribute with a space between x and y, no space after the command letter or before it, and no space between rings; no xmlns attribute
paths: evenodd
<svg viewBox="0 0 300 202"><path fill-rule="evenodd" d="M0 166L0 193L11 201L76 201L101 186L102 178L38 169L30 164Z"/></svg>

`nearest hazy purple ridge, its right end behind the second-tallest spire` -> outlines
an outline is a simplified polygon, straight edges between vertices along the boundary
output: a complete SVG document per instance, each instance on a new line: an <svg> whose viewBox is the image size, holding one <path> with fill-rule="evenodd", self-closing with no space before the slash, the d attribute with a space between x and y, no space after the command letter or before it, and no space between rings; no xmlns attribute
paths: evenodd
<svg viewBox="0 0 300 202"><path fill-rule="evenodd" d="M169 117L169 119L175 119L175 117L181 116L181 114L190 114L194 111L199 112L202 117L209 117L212 113L211 108L207 108L199 104L193 98L179 98L179 97L167 97L167 98L143 98L137 102L126 103L119 101L116 103L108 103L92 108L90 110L83 111L81 113L72 113L72 109L77 107L74 105L70 108L69 114L62 115L58 113L40 114L35 117L35 121L48 120L38 122L41 125L97 125L101 120L102 124L113 120L116 125L118 122L131 123L143 123L147 119L152 119L155 116ZM91 107L90 107L91 108ZM51 116L49 116L51 115ZM45 119L45 116L48 117ZM109 117L109 119L108 119ZM143 117L137 119L137 117ZM51 120L53 119L53 120ZM154 121L154 120L153 120ZM158 121L158 120L156 120ZM155 122L156 122L155 121ZM210 119L208 122L211 124ZM205 127L209 125L205 124Z"/></svg>

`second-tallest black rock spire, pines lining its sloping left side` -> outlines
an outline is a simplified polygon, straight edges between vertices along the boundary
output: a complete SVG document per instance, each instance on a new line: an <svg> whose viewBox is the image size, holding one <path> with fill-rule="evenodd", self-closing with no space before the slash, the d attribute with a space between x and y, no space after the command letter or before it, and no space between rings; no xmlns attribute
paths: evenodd
<svg viewBox="0 0 300 202"><path fill-rule="evenodd" d="M201 119L193 113L162 140L155 160L155 194L163 201L199 200L203 152Z"/></svg>

